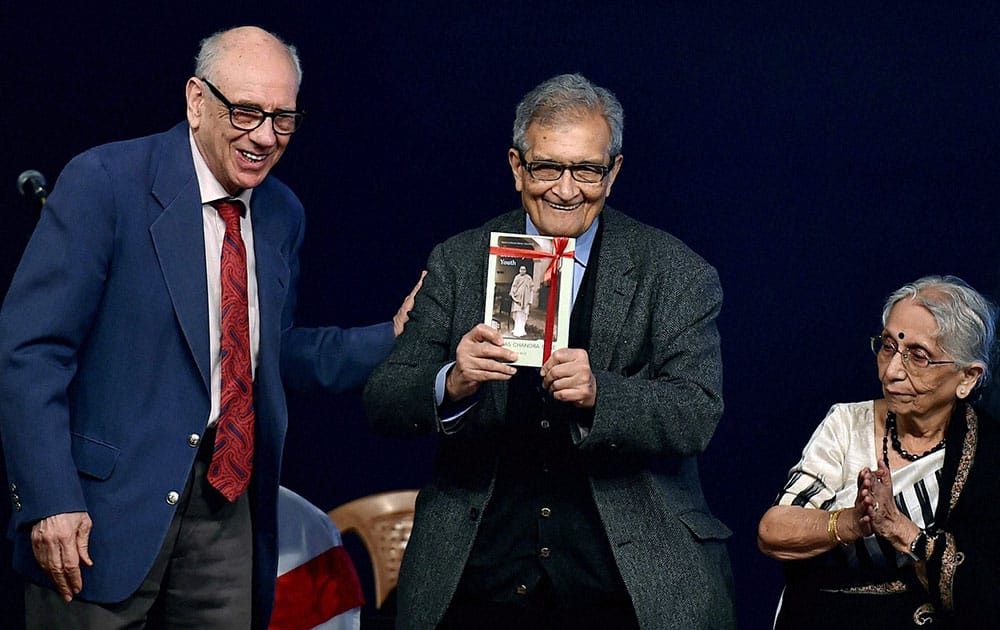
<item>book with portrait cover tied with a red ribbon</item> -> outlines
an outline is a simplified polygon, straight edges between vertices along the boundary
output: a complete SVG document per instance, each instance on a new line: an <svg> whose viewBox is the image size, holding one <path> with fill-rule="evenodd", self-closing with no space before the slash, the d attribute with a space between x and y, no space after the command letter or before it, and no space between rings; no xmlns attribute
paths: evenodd
<svg viewBox="0 0 1000 630"><path fill-rule="evenodd" d="M517 352L514 365L541 367L569 344L576 241L490 233L485 322Z"/></svg>

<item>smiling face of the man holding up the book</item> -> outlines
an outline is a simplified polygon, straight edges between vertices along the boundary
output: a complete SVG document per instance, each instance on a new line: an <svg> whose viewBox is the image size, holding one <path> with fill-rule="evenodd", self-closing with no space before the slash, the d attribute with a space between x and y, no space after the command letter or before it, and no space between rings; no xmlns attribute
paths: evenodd
<svg viewBox="0 0 1000 630"><path fill-rule="evenodd" d="M607 164L611 130L603 116L588 112L553 127L532 122L525 141L525 159L529 162ZM577 237L587 231L604 209L622 157L615 158L607 177L596 184L578 182L568 170L555 181L537 181L525 170L516 149L509 151L508 160L514 174L514 186L521 193L521 203L538 231L547 236Z"/></svg>

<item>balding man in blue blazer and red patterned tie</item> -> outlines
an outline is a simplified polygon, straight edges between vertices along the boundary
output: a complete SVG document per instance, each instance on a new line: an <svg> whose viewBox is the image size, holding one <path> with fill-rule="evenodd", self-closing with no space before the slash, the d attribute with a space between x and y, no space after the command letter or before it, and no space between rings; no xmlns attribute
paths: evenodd
<svg viewBox="0 0 1000 630"><path fill-rule="evenodd" d="M276 36L217 33L187 82L187 123L83 153L48 198L0 311L29 628L267 626L282 381L360 386L406 311L367 328L293 327L304 213L268 174L302 119L300 79ZM220 270L231 247L243 250L235 284ZM223 335L230 308L238 330ZM230 336L247 343L234 351ZM224 366L240 353L234 386ZM223 439L233 387L252 413ZM207 470L247 437L224 495Z"/></svg>

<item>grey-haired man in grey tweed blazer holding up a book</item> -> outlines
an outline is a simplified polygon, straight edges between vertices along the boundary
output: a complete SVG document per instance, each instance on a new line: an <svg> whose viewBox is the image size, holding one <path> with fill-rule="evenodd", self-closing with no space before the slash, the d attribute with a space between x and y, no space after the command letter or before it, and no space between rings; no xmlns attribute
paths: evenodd
<svg viewBox="0 0 1000 630"><path fill-rule="evenodd" d="M731 532L696 457L722 414L718 275L605 206L613 94L561 75L518 106L523 208L438 245L365 404L390 436L440 435L403 560L397 627L731 628ZM577 239L569 348L542 368L482 323L492 231Z"/></svg>

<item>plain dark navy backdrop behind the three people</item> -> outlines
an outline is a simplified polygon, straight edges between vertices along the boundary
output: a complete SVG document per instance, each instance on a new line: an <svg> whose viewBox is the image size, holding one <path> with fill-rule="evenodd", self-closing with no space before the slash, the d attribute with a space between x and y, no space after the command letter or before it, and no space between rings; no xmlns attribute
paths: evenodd
<svg viewBox="0 0 1000 630"><path fill-rule="evenodd" d="M726 413L703 475L736 532L744 628L768 625L781 585L757 519L827 407L878 393L866 338L885 294L927 273L996 283L992 7L11 4L0 289L35 219L18 173L51 180L92 145L181 120L198 40L219 28L262 24L301 51L309 117L275 172L310 220L307 325L387 319L436 242L515 207L506 148L523 93L572 71L615 91L625 162L611 203L722 276ZM316 504L427 478L433 441L371 436L357 394L290 404L283 482ZM19 592L0 577L10 615Z"/></svg>

